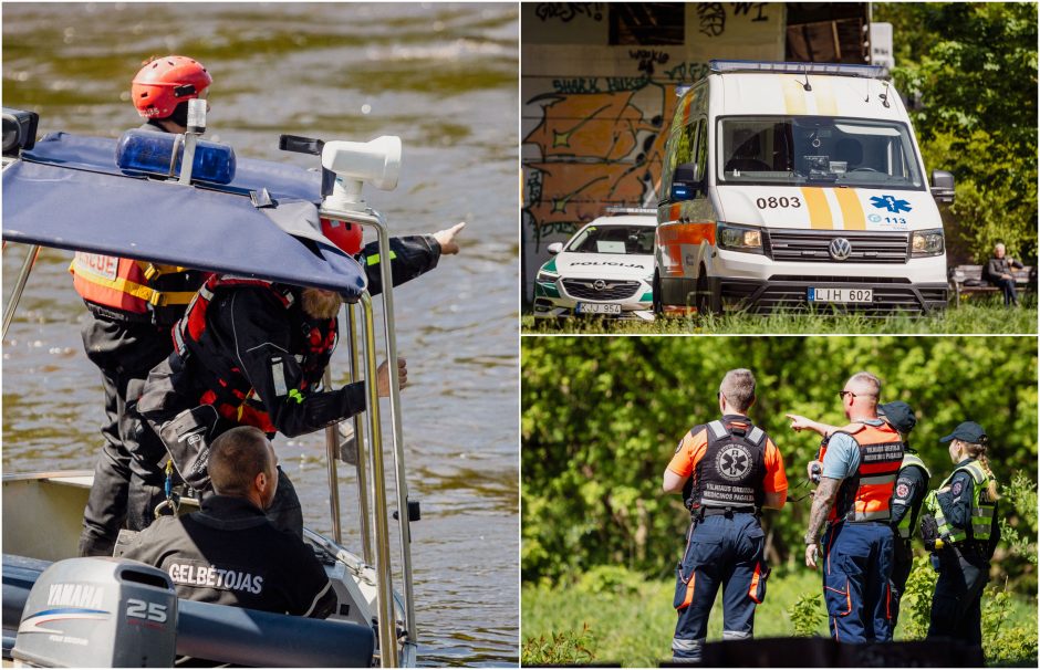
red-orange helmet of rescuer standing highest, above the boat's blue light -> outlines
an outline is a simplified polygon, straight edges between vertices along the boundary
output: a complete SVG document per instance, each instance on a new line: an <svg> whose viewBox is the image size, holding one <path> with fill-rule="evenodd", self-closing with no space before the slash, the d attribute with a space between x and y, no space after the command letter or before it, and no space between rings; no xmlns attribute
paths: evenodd
<svg viewBox="0 0 1040 670"><path fill-rule="evenodd" d="M180 102L198 97L212 83L198 61L168 55L145 63L134 77L131 98L145 118L166 118Z"/></svg>

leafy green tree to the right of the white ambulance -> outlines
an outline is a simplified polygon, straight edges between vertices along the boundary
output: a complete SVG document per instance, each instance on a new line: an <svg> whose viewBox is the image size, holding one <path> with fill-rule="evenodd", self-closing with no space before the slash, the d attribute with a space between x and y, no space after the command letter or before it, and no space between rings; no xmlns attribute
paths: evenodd
<svg viewBox="0 0 1040 670"><path fill-rule="evenodd" d="M951 171L953 257L989 258L1002 241L1037 259L1037 3L877 3L893 24L896 86L925 164Z"/></svg>

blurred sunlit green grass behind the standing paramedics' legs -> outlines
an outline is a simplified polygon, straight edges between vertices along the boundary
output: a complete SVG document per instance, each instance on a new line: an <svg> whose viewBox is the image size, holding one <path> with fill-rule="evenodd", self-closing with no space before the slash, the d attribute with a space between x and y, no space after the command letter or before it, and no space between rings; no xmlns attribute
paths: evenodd
<svg viewBox="0 0 1040 670"><path fill-rule="evenodd" d="M521 589L524 650L544 640L580 638L592 652L593 664L617 663L622 667L657 667L670 660L675 610L672 608L674 582L639 580L615 585L595 593L582 584L571 587L524 585ZM789 609L803 594L821 593L819 573L795 569L769 578L766 601L755 615L755 636L789 637L794 635ZM1037 631L1037 600L1017 596L1010 621L1031 626ZM1031 624L1030 624L1031 622ZM903 624L895 639L903 639ZM587 628L587 629L585 629ZM821 624L818 635L826 636ZM708 641L722 637L721 595L716 599L708 622ZM1023 659L1036 661L1036 657ZM797 664L797 663L795 663Z"/></svg>

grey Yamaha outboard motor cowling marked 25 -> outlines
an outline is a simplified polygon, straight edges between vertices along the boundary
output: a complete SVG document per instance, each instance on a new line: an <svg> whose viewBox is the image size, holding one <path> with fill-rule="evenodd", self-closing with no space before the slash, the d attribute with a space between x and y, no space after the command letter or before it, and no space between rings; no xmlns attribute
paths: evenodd
<svg viewBox="0 0 1040 670"><path fill-rule="evenodd" d="M119 558L69 558L29 593L11 656L43 668L174 664L177 594L163 570Z"/></svg>

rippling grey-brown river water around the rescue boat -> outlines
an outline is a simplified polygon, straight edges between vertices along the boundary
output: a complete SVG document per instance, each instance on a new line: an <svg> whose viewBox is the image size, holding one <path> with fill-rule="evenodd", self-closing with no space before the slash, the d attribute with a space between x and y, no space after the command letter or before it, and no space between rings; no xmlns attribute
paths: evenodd
<svg viewBox="0 0 1040 670"><path fill-rule="evenodd" d="M412 526L419 662L517 663L517 6L6 3L3 104L39 112L41 132L117 137L141 123L131 78L167 53L214 76L208 139L310 167L277 150L280 133L399 135L399 186L366 188L370 203L401 233L469 222L461 255L395 292L408 482L423 504ZM126 224L147 224L146 212ZM4 305L23 253L3 252ZM101 443L70 258L42 253L3 342L4 472L90 469ZM322 436L279 437L275 449L306 524L329 532ZM360 547L342 464L340 498L344 542Z"/></svg>

